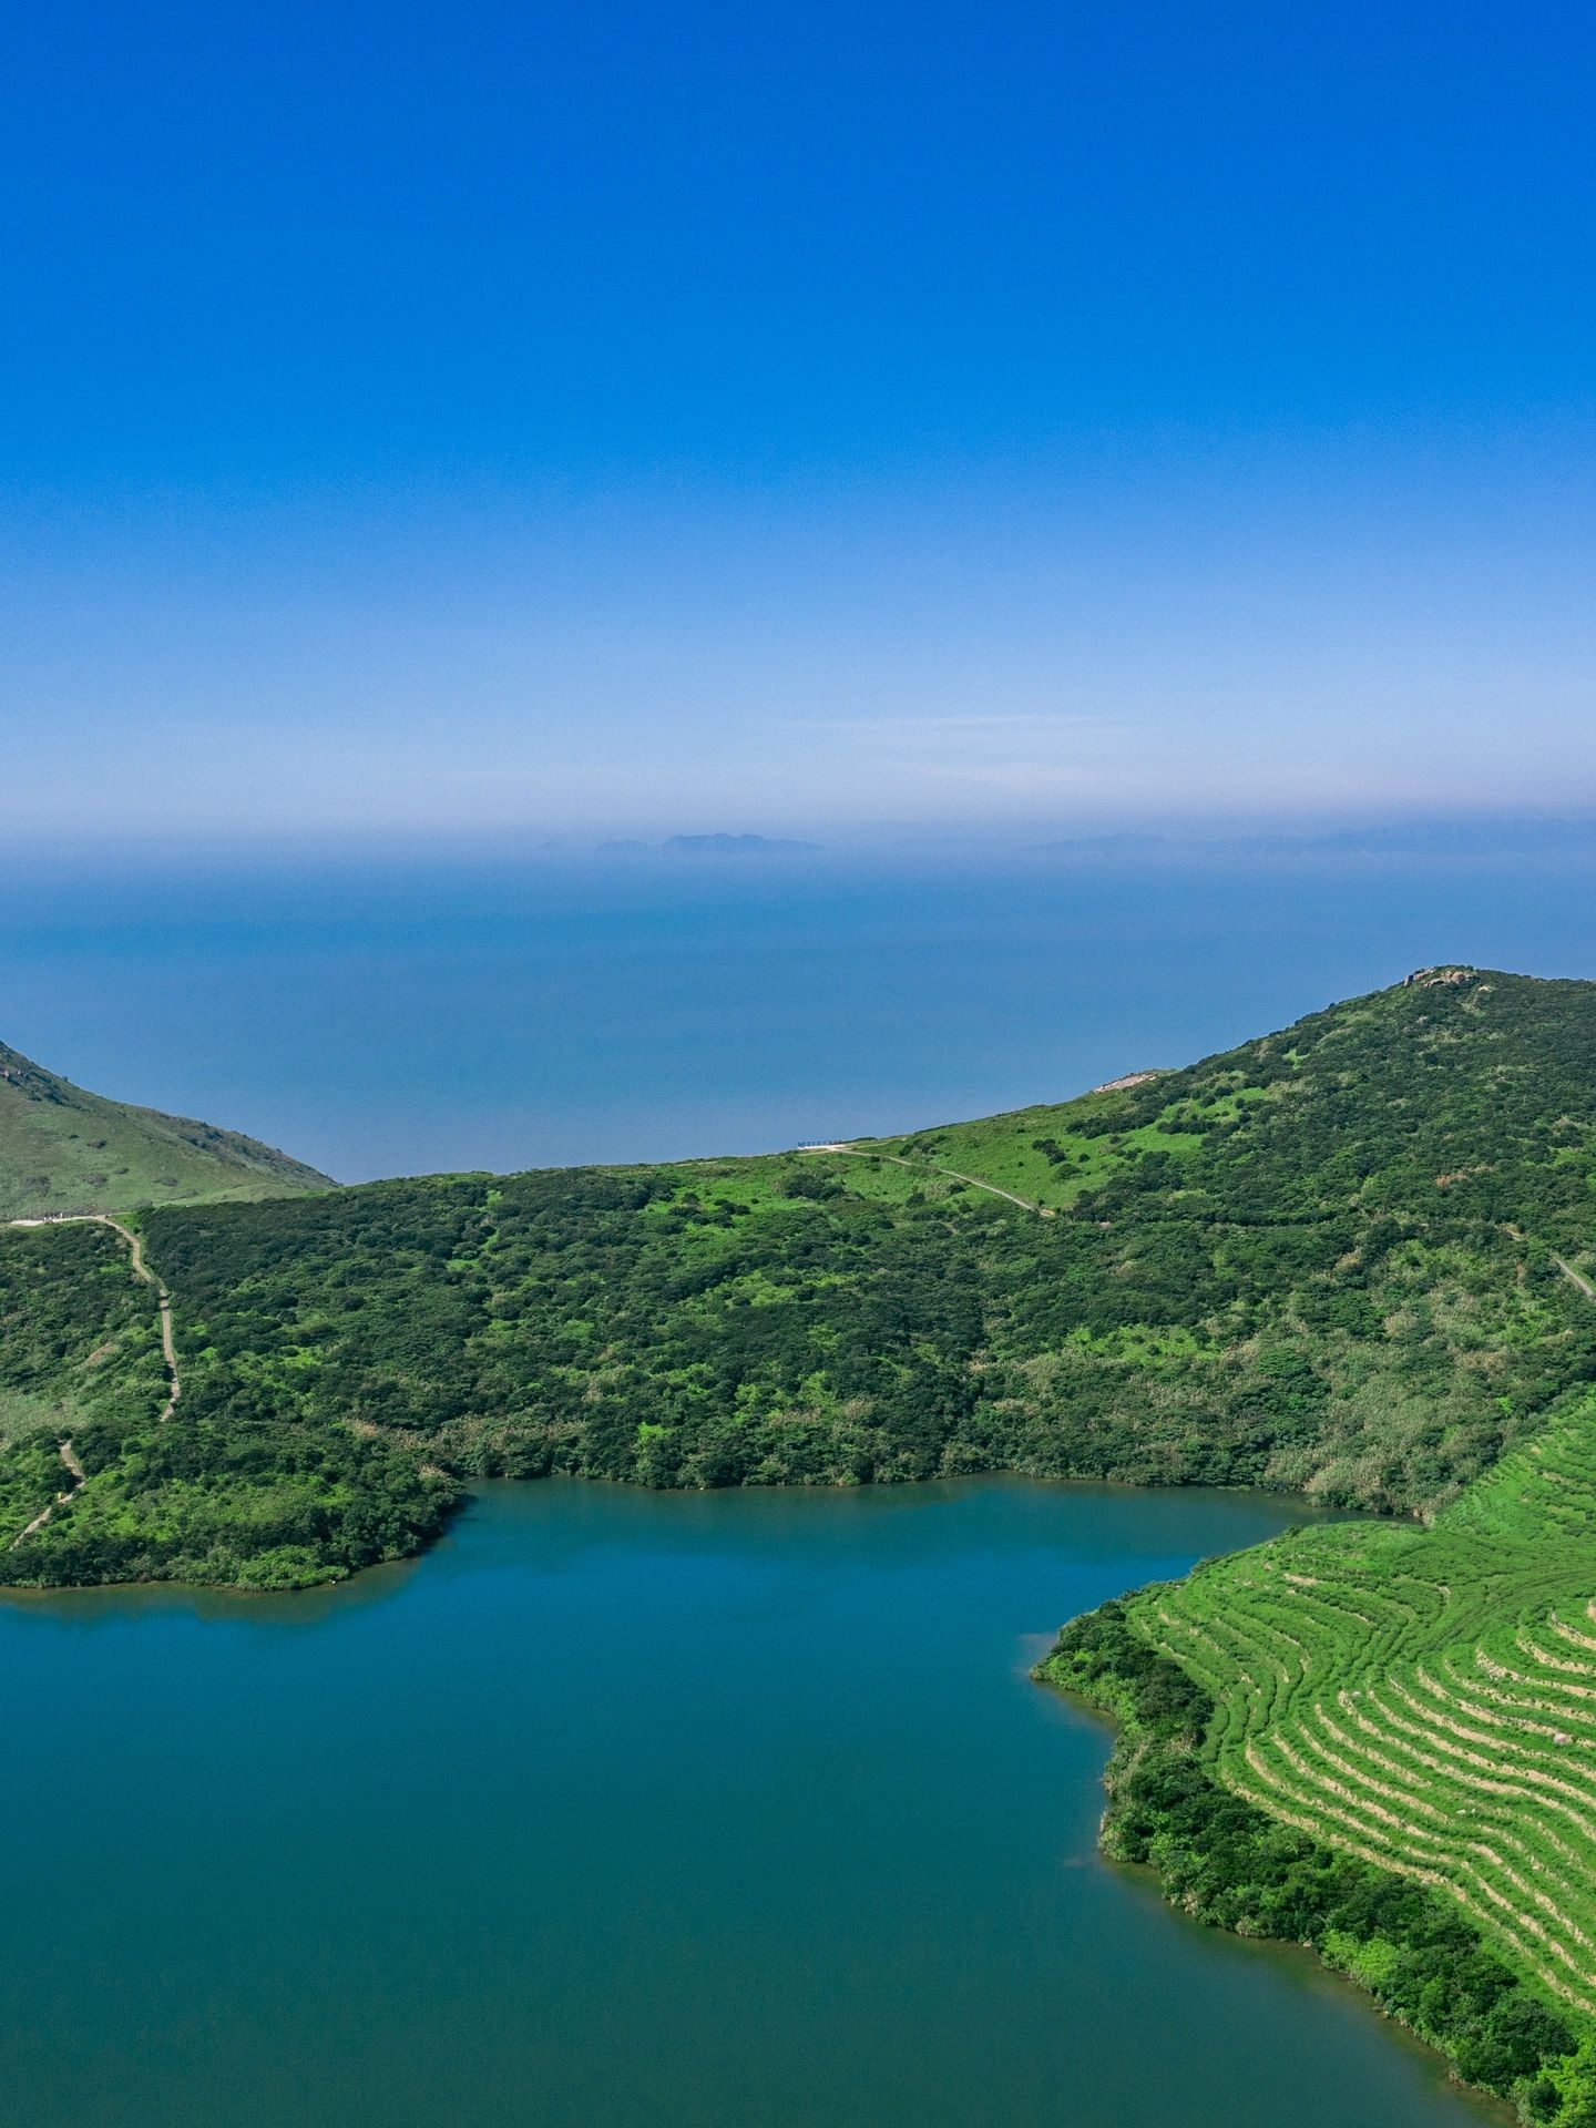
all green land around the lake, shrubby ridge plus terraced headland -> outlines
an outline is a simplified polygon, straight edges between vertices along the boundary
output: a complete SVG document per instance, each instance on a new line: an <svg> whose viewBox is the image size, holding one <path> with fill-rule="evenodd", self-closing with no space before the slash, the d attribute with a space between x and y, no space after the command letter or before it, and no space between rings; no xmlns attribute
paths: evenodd
<svg viewBox="0 0 1596 2128"><path fill-rule="evenodd" d="M164 1204L177 1404L126 1234L13 1228L0 1573L336 1579L487 1473L1385 1511L1109 1605L1045 1670L1124 1724L1113 1851L1596 2128L1592 1132L1596 985L1439 968L900 1138Z"/></svg>

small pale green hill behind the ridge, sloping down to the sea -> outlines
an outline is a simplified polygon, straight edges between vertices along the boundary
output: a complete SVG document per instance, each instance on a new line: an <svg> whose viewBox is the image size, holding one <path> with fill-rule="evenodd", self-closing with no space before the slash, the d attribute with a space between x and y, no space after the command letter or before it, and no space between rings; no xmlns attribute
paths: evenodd
<svg viewBox="0 0 1596 2128"><path fill-rule="evenodd" d="M270 1145L85 1094L0 1043L0 1219L326 1187Z"/></svg>

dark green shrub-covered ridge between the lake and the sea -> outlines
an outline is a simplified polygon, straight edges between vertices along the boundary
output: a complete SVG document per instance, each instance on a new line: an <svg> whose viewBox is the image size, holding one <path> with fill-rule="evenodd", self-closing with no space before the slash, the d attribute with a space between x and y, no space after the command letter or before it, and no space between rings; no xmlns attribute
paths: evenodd
<svg viewBox="0 0 1596 2128"><path fill-rule="evenodd" d="M179 1411L151 1443L130 1402L0 1560L326 1579L419 1541L460 1479L547 1470L1436 1509L1596 1379L1596 1307L1556 1264L1590 1262L1594 1060L1596 985L1441 970L855 1149L162 1207ZM0 1304L15 1262L0 1241Z"/></svg>

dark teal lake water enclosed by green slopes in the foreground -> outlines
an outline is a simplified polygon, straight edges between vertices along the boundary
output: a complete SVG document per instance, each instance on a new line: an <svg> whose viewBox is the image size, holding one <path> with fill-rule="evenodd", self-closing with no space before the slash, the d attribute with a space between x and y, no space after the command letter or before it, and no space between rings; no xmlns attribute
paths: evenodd
<svg viewBox="0 0 1596 2128"><path fill-rule="evenodd" d="M1296 1500L489 1485L326 1594L0 1605L11 2128L1464 2128L1094 1847L1055 1626Z"/></svg>

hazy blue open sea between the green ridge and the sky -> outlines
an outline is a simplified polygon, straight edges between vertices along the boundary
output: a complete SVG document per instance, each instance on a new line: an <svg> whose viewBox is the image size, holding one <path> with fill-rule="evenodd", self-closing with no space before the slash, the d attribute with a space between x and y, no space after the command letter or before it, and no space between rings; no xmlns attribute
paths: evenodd
<svg viewBox="0 0 1596 2128"><path fill-rule="evenodd" d="M1064 1098L1434 960L1596 975L1592 860L19 870L0 1041L340 1181Z"/></svg>

